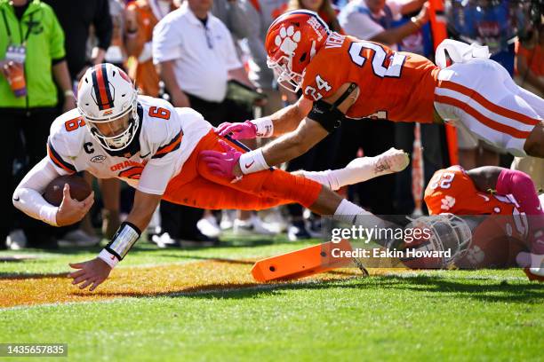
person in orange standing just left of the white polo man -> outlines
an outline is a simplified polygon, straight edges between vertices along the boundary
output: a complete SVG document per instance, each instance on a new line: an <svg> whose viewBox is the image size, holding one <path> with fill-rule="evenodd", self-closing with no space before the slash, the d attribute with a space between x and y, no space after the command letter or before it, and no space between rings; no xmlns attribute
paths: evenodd
<svg viewBox="0 0 544 362"><path fill-rule="evenodd" d="M129 75L142 94L159 95L159 76L151 54L153 28L168 12L177 9L173 0L136 0L126 7L125 47L129 57Z"/></svg>

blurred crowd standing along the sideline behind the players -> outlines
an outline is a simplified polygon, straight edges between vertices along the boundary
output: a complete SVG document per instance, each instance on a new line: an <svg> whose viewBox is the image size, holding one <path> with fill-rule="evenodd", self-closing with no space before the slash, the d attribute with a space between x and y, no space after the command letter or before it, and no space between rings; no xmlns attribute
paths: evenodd
<svg viewBox="0 0 544 362"><path fill-rule="evenodd" d="M54 228L12 207L15 185L45 155L52 121L76 107L77 83L88 67L102 62L123 67L140 94L166 98L174 106L190 106L214 126L244 122L272 114L297 99L278 87L267 67L264 39L278 15L292 9L312 10L332 31L433 59L425 4L424 0L0 0L4 136L0 164L7 180L0 248L91 247L111 238L132 207L129 186L117 179L99 182L89 175L84 177L99 197L80 224ZM519 85L542 97L542 6L539 0L447 0L444 14L439 15L445 16L450 37L488 45L492 59ZM24 66L7 65L17 57L22 57ZM8 78L20 71L26 84L20 94L14 94ZM244 84L260 97L235 97L233 83ZM543 160L513 160L469 134L457 136L461 166L528 168L542 188ZM252 140L246 146L254 148L260 142ZM282 167L338 169L357 156L374 156L393 146L412 153L411 166L340 193L374 214L426 213L421 203L425 185L436 170L450 166L443 125L344 122L308 153ZM235 235L286 232L289 240L303 240L319 236L320 230L319 217L298 205L259 213L212 212L163 201L148 228L148 240L161 248L212 246L226 231Z"/></svg>

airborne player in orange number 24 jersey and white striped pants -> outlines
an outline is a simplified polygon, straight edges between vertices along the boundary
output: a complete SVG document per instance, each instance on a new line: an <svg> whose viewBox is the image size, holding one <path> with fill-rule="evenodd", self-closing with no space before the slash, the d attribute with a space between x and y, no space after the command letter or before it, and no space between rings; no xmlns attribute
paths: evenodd
<svg viewBox="0 0 544 362"><path fill-rule="evenodd" d="M277 18L268 28L266 48L278 83L303 95L269 117L220 125L220 135L232 133L236 139L286 134L218 173L241 176L290 161L340 127L346 116L452 120L516 156L544 157L544 100L518 87L495 61L473 58L485 49L445 41L436 58L444 58L445 48L456 63L440 68L417 54L330 32L308 11Z"/></svg>

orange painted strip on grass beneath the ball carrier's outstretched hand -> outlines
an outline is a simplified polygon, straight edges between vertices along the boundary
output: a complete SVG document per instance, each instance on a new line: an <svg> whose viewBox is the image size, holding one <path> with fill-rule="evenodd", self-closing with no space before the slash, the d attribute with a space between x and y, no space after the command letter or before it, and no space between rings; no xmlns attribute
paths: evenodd
<svg viewBox="0 0 544 362"><path fill-rule="evenodd" d="M0 308L17 305L100 301L119 297L153 297L208 290L255 287L252 264L206 261L149 268L115 269L94 292L79 290L67 277L0 279ZM316 275L312 279L346 279L357 271Z"/></svg>

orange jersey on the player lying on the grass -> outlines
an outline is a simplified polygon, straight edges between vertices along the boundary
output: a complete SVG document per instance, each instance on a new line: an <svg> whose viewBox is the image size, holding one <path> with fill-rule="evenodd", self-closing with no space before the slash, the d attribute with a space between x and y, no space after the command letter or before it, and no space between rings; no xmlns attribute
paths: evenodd
<svg viewBox="0 0 544 362"><path fill-rule="evenodd" d="M424 200L430 215L512 215L516 209L511 197L478 191L460 166L436 171L425 189Z"/></svg>

